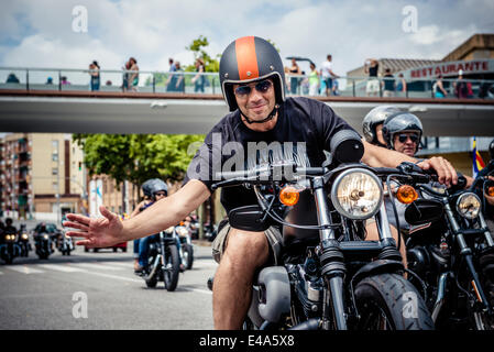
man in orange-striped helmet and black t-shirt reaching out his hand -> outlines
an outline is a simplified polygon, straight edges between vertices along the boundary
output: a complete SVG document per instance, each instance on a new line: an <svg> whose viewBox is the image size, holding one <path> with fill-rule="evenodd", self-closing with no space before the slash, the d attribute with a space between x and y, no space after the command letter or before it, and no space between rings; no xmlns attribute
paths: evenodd
<svg viewBox="0 0 494 352"><path fill-rule="evenodd" d="M294 157L306 165L320 166L326 160L323 151L330 150L332 135L341 130L353 131L323 102L304 97L285 98L283 62L276 48L263 38L246 36L232 42L221 56L219 74L231 112L206 136L205 144L189 165L185 185L128 221L121 222L105 207L100 208L103 219L69 215L67 226L80 231L68 234L85 238L78 244L105 246L176 224L210 197L213 170L231 165L229 156L232 152L239 157L245 156L249 142L305 142L307 155ZM363 145L362 162L373 167L417 162L366 141ZM221 153L227 148L229 153ZM252 162L249 155L244 160ZM237 165L241 167L243 163ZM453 167L442 157L432 157L418 165L425 169L433 168L442 183L457 183ZM221 200L227 210L256 204L252 189L231 191L223 188ZM222 231L213 243L218 251L215 256L220 258L213 285L215 328L240 329L251 302L254 273L268 262L278 261L281 234L271 228L265 232L246 232L223 227ZM372 234L367 238L372 239Z"/></svg>

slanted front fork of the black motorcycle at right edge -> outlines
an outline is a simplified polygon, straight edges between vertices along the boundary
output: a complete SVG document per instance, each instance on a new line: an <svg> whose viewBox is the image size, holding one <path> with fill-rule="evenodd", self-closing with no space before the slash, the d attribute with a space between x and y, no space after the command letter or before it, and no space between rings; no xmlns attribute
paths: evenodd
<svg viewBox="0 0 494 352"><path fill-rule="evenodd" d="M466 245L463 233L461 232L460 226L458 224L457 219L453 216L453 211L451 210L449 202L444 202L444 210L446 210L448 220L451 223L453 233L457 239L458 246L460 248L460 254L464 257L464 260L466 262L466 267L469 268L470 275L472 276L472 285L473 285L473 289L476 294L476 298L483 305L483 307L487 311L487 314L491 315L492 314L491 305L488 302L487 297L485 296L484 289L482 287L481 280L479 278L479 274L476 273L475 267L473 265L472 250ZM482 213L481 213L481 216L482 216ZM483 217L481 217L481 219L483 219ZM484 221L484 223L485 223L485 221ZM481 221L481 226L482 226L482 221ZM492 243L491 233L488 231L486 231L484 233L484 235L486 238L488 238L487 244Z"/></svg>

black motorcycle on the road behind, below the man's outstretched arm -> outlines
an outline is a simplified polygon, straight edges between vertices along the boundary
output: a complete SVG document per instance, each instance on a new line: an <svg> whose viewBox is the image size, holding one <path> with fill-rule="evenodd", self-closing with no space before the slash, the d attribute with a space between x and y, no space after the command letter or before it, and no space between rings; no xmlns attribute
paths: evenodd
<svg viewBox="0 0 494 352"><path fill-rule="evenodd" d="M156 287L157 282L163 282L168 292L177 287L180 271L177 241L173 229L162 231L151 240L150 264L142 274L147 287Z"/></svg>

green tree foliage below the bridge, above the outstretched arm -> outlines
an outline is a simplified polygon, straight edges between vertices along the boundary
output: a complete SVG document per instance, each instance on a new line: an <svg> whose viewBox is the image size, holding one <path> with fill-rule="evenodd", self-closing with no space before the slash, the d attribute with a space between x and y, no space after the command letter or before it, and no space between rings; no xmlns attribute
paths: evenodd
<svg viewBox="0 0 494 352"><path fill-rule="evenodd" d="M199 134L74 134L83 147L90 175L106 174L117 182L142 185L149 178L179 182L198 146Z"/></svg>

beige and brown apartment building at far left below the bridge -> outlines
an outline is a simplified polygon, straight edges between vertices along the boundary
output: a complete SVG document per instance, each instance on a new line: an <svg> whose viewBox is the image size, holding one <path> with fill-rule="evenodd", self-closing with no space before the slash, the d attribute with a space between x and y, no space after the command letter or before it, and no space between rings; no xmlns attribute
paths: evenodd
<svg viewBox="0 0 494 352"><path fill-rule="evenodd" d="M0 206L6 216L55 221L83 210L83 153L70 134L10 133L2 144Z"/></svg>

